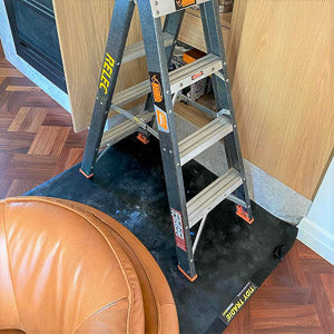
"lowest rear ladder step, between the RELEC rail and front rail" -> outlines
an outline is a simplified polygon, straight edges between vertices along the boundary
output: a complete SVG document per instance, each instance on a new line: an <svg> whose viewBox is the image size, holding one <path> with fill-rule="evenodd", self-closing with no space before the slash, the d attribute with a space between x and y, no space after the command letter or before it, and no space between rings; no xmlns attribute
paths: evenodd
<svg viewBox="0 0 334 334"><path fill-rule="evenodd" d="M143 120L144 122L149 122L154 117L155 112L145 112L138 115L137 118ZM106 145L115 145L116 143L125 139L126 137L135 134L139 129L139 126L132 120L126 120L120 125L112 127L111 129L105 131L101 147Z"/></svg>

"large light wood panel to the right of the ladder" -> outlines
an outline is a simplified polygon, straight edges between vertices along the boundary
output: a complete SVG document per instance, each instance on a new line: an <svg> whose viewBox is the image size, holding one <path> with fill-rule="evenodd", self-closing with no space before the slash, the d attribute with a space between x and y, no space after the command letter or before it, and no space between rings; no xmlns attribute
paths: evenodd
<svg viewBox="0 0 334 334"><path fill-rule="evenodd" d="M308 199L334 146L333 6L248 0L234 77L245 158Z"/></svg>

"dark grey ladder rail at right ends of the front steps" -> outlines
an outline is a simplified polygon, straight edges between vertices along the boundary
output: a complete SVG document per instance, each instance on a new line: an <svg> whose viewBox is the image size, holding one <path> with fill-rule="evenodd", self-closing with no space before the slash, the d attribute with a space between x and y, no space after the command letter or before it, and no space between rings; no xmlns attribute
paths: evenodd
<svg viewBox="0 0 334 334"><path fill-rule="evenodd" d="M223 70L220 71L220 73L223 75L225 80L222 80L222 78L218 78L218 76L213 76L213 87L216 98L216 108L217 110L229 110L229 117L234 129L234 131L224 139L228 166L229 168L234 167L235 169L237 169L240 173L240 177L243 179L243 186L240 186L236 191L234 191L234 194L236 197L240 198L246 203L246 210L248 212L249 219L252 219L253 215L246 183L245 167L240 149L238 129L236 125L235 110L232 99L230 84L228 79L226 52L223 41L218 2L217 0L212 0L202 3L199 8L204 35L207 45L207 51L208 53L219 56L223 61ZM226 94L224 94L225 91Z"/></svg>

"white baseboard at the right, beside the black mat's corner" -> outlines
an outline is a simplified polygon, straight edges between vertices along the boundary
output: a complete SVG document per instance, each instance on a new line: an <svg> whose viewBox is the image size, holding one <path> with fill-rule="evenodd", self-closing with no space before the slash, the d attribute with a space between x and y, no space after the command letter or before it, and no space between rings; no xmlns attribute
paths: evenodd
<svg viewBox="0 0 334 334"><path fill-rule="evenodd" d="M298 225L297 238L334 265L334 235L317 226L310 218L304 217Z"/></svg>

